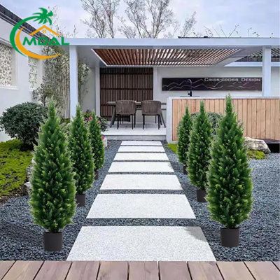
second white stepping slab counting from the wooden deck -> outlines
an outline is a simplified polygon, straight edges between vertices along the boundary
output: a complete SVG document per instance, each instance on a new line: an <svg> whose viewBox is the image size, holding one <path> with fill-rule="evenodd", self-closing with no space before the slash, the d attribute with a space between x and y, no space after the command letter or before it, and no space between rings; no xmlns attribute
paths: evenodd
<svg viewBox="0 0 280 280"><path fill-rule="evenodd" d="M87 218L195 218L186 195L101 194Z"/></svg>

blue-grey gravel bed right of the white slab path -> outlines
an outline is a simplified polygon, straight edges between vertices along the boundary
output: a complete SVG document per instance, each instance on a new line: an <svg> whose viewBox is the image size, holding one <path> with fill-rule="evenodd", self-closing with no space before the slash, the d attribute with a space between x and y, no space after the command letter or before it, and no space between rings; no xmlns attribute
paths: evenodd
<svg viewBox="0 0 280 280"><path fill-rule="evenodd" d="M251 160L253 178L253 211L248 221L241 224L240 244L237 248L220 245L220 224L209 218L206 203L196 202L196 188L183 175L183 166L177 156L165 146L175 174L185 191L196 216L195 221L183 221L180 225L197 225L202 228L217 260L279 260L280 231L280 155L272 153L265 160Z"/></svg>

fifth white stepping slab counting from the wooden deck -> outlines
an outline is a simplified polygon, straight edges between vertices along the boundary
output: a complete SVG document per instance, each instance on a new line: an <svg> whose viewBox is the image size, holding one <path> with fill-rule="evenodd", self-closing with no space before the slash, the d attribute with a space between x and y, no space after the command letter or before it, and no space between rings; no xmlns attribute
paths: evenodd
<svg viewBox="0 0 280 280"><path fill-rule="evenodd" d="M169 161L166 153L117 153L114 160L161 160Z"/></svg>

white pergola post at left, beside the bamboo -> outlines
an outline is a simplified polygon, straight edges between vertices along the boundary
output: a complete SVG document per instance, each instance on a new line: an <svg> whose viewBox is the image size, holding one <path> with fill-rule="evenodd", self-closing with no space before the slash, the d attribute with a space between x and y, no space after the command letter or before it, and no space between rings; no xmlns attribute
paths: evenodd
<svg viewBox="0 0 280 280"><path fill-rule="evenodd" d="M78 105L78 55L76 45L69 46L70 64L70 118L76 115Z"/></svg>

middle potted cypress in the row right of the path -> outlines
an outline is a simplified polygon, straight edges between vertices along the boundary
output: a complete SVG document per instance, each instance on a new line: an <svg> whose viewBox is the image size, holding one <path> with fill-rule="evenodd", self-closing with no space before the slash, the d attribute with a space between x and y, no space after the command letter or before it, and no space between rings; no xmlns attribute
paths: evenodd
<svg viewBox="0 0 280 280"><path fill-rule="evenodd" d="M212 128L204 102L200 102L200 113L195 119L193 130L190 134L188 148L188 176L190 182L197 187L197 202L206 202L207 171L212 140Z"/></svg>

